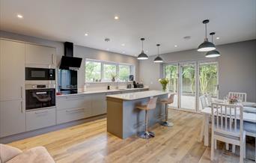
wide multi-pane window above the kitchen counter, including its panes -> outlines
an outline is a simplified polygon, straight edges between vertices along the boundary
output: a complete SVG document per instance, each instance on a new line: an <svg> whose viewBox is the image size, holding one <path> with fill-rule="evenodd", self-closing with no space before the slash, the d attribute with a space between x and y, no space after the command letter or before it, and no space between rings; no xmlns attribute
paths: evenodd
<svg viewBox="0 0 256 163"><path fill-rule="evenodd" d="M135 66L108 61L87 59L85 61L85 82L128 82L135 76Z"/></svg>

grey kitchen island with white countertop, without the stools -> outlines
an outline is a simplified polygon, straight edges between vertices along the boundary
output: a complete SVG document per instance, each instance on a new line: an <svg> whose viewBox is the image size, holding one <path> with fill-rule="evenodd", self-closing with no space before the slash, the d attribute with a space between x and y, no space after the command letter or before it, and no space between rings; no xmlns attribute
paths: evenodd
<svg viewBox="0 0 256 163"><path fill-rule="evenodd" d="M136 105L147 105L150 97L157 96L156 108L149 111L148 125L153 126L165 116L165 108L160 100L167 99L168 93L159 90L148 90L136 93L108 95L107 98L107 131L119 138L128 138L144 131L145 111Z"/></svg>

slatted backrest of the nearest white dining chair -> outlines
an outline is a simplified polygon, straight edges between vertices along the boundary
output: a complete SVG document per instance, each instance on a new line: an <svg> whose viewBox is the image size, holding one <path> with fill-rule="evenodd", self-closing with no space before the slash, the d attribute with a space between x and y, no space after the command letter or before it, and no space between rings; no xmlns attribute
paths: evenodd
<svg viewBox="0 0 256 163"><path fill-rule="evenodd" d="M234 136L240 130L240 136L243 134L243 105L213 102L211 108L214 115L212 116L213 132Z"/></svg>

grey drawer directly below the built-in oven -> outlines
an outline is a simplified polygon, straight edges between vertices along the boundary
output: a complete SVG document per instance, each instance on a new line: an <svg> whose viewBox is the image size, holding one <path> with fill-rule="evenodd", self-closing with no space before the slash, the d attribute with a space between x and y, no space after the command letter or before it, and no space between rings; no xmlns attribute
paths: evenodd
<svg viewBox="0 0 256 163"><path fill-rule="evenodd" d="M27 111L25 114L26 131L53 126L56 124L56 108Z"/></svg>

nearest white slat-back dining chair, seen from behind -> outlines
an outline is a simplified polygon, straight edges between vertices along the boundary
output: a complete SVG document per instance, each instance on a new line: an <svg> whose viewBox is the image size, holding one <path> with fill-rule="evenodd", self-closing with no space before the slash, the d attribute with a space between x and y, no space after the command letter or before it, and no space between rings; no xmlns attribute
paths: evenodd
<svg viewBox="0 0 256 163"><path fill-rule="evenodd" d="M245 157L246 132L243 130L243 105L228 105L213 102L212 110L212 139L210 159L214 159L216 141L240 146L240 163ZM239 117L239 118L238 118ZM240 124L237 121L240 120Z"/></svg>

